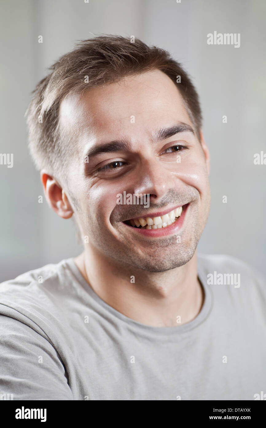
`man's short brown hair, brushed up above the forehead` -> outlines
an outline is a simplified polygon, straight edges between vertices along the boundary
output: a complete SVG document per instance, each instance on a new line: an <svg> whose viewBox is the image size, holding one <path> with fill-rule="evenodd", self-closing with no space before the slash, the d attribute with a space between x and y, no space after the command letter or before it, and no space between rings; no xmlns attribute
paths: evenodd
<svg viewBox="0 0 266 428"><path fill-rule="evenodd" d="M50 67L51 73L32 92L26 116L29 151L36 168L46 168L57 178L65 177L70 143L61 136L58 112L67 95L154 69L163 71L177 85L199 138L199 97L182 66L164 49L149 47L139 39L106 34L78 42Z"/></svg>

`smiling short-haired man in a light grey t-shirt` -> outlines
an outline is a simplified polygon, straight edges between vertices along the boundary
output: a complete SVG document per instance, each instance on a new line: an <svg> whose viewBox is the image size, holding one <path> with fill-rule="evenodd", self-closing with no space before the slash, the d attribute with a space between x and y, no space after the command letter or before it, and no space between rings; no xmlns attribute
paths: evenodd
<svg viewBox="0 0 266 428"><path fill-rule="evenodd" d="M1 392L16 400L254 400L266 293L197 256L210 156L196 89L170 55L99 36L60 58L27 112L50 207L83 253L0 286Z"/></svg>

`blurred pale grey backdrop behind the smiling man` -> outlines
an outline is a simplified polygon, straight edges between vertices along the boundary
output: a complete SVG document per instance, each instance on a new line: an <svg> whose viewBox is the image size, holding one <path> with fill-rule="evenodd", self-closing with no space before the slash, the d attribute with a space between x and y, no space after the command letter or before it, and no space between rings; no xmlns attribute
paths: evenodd
<svg viewBox="0 0 266 428"><path fill-rule="evenodd" d="M47 68L102 33L165 48L189 72L211 155L199 252L230 254L266 276L266 165L254 165L254 154L266 153L265 0L2 0L0 9L0 153L14 156L12 168L0 165L0 282L82 252L72 221L38 203L24 113ZM214 31L240 33L240 48L207 45Z"/></svg>

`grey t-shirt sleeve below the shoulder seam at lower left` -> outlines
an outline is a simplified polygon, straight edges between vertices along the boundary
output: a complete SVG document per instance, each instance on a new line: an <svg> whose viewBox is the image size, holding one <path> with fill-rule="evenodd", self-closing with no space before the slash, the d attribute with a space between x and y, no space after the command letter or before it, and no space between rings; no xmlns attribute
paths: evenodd
<svg viewBox="0 0 266 428"><path fill-rule="evenodd" d="M6 315L0 315L0 394L13 394L13 400L73 400L53 345Z"/></svg>

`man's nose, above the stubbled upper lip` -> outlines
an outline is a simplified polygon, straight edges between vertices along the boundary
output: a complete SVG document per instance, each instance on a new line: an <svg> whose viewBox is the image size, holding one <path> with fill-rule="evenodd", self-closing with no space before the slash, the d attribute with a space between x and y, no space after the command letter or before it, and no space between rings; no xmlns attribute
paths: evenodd
<svg viewBox="0 0 266 428"><path fill-rule="evenodd" d="M137 173L134 193L149 194L154 202L159 202L175 186L174 175L156 158L144 160Z"/></svg>

